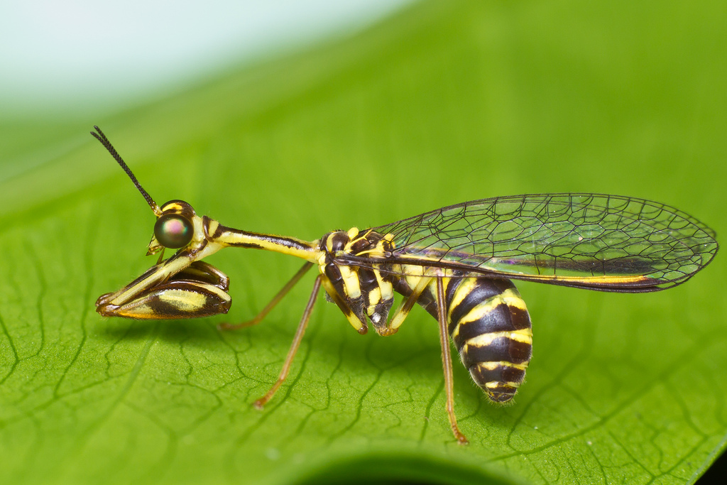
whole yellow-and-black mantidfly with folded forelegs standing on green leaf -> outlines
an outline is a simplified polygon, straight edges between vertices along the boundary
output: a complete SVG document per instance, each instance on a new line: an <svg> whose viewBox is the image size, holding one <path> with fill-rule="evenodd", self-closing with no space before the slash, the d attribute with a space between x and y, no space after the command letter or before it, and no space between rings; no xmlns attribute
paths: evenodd
<svg viewBox="0 0 727 485"><path fill-rule="evenodd" d="M491 401L515 396L531 358L531 321L511 280L654 292L687 281L717 254L715 232L684 212L643 199L590 193L497 197L456 204L375 228L332 231L316 241L252 233L199 217L185 201L159 207L103 132L99 140L156 216L148 254L158 262L96 310L124 318L197 318L227 313L229 280L204 257L225 247L265 249L305 264L252 320L260 323L316 266L318 275L278 380L286 379L321 286L360 334L398 331L415 303L438 321L446 412L454 437L467 439L454 414L449 338ZM164 260L164 249L176 249ZM389 318L394 294L403 295Z"/></svg>

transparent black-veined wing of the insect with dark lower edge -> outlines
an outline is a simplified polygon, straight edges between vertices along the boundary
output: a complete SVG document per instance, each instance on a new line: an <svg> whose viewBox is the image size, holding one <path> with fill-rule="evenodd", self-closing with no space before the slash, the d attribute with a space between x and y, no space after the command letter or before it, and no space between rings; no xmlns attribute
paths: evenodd
<svg viewBox="0 0 727 485"><path fill-rule="evenodd" d="M482 199L373 231L393 241L395 273L428 266L621 292L683 283L718 250L715 232L678 209L590 193Z"/></svg>

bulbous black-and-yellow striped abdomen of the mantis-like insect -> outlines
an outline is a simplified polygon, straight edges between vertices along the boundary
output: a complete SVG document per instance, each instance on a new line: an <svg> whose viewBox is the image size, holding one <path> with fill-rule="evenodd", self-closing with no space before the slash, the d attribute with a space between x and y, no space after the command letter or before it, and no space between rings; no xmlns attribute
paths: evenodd
<svg viewBox="0 0 727 485"><path fill-rule="evenodd" d="M473 380L491 401L510 401L525 380L532 329L525 302L506 279L447 282L449 334Z"/></svg>

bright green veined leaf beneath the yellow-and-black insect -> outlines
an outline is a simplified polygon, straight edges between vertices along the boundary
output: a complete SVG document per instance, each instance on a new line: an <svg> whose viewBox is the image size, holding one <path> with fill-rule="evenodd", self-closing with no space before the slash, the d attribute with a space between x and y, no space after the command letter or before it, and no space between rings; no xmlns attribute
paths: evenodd
<svg viewBox="0 0 727 485"><path fill-rule="evenodd" d="M321 299L262 411L313 277L227 249L227 316L101 318L153 264L158 201L317 239L468 199L589 191L673 204L727 233L722 1L427 1L351 39L108 119L3 119L1 483L691 483L727 436L723 254L656 294L520 284L534 358L512 406L455 362L451 436L435 321L361 337Z"/></svg>

